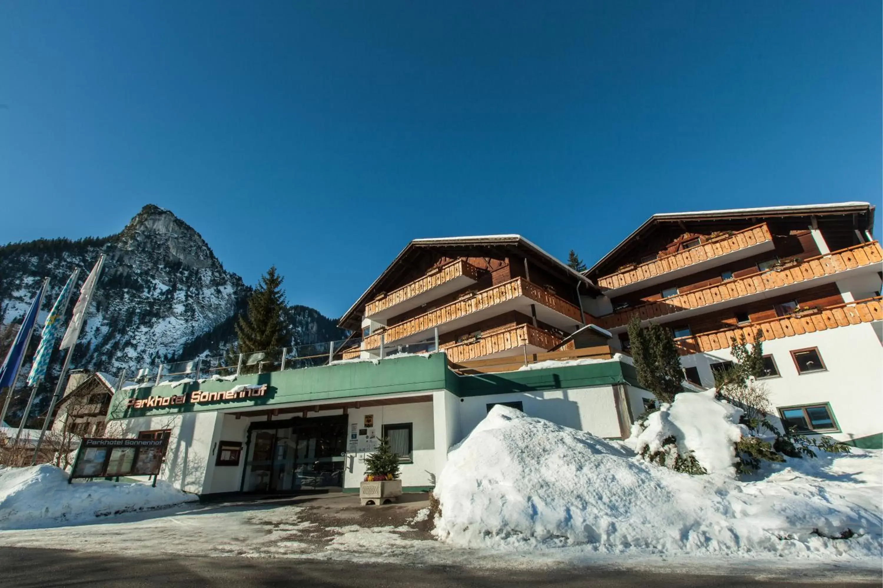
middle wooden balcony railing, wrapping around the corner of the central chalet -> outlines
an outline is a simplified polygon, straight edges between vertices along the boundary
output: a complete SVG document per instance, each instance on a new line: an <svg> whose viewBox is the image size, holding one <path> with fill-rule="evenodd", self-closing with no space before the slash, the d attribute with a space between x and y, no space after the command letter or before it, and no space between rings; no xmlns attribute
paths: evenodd
<svg viewBox="0 0 883 588"><path fill-rule="evenodd" d="M476 294L472 294L469 298L458 300L445 304L437 309L430 310L420 316L415 316L400 324L389 327L382 333L369 335L364 339L363 349L374 349L381 345L381 334L386 343L391 343L397 339L403 339L421 331L427 331L440 324L447 323L461 316L466 316L473 312L487 309L495 304L512 300L519 296L525 296L532 301L538 302L543 306L553 309L564 316L568 316L575 323L582 324L583 319L580 316L579 309L570 304L563 298L547 292L543 288L532 284L524 278L510 279L494 287L489 287ZM586 319L591 317L586 315Z"/></svg>

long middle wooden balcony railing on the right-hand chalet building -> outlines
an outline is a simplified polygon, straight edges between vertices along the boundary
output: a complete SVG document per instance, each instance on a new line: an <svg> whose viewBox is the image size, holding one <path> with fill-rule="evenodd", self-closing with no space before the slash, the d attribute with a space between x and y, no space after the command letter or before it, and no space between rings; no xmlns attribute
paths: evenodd
<svg viewBox="0 0 883 588"><path fill-rule="evenodd" d="M743 278L728 279L720 284L699 288L686 294L677 294L660 301L647 302L633 309L624 309L612 315L598 317L598 323L605 329L615 329L629 324L632 316L638 315L641 320L648 320L680 312L712 305L716 302L728 301L740 296L747 296L774 290L807 279L820 278L838 272L857 268L868 264L879 264L883 261L883 251L879 243L874 241L840 249L818 257L810 257L794 264L780 268L752 273Z"/></svg>

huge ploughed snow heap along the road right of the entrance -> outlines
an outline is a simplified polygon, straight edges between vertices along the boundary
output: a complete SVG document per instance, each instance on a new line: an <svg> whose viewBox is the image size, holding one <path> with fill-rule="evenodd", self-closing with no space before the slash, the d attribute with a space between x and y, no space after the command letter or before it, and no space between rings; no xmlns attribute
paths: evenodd
<svg viewBox="0 0 883 588"><path fill-rule="evenodd" d="M498 405L449 453L435 533L464 547L879 558L879 451L810 462L752 482L691 476ZM857 536L813 532L846 529Z"/></svg>

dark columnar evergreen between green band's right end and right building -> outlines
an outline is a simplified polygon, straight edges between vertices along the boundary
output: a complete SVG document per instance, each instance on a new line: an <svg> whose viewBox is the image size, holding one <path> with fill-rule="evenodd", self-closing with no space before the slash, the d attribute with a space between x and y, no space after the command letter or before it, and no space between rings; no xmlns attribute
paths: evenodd
<svg viewBox="0 0 883 588"><path fill-rule="evenodd" d="M674 401L682 390L683 369L671 331L655 323L642 329L641 319L632 316L629 343L641 387L653 392L660 402Z"/></svg>

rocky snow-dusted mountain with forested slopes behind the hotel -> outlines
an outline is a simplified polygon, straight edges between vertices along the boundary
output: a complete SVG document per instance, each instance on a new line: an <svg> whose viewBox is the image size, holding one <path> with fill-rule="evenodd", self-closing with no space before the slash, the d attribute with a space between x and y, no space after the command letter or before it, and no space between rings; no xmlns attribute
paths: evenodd
<svg viewBox="0 0 883 588"><path fill-rule="evenodd" d="M49 277L43 318L73 268L80 268L79 288L101 253L104 271L72 367L132 373L173 358L220 355L235 340L234 317L251 288L224 270L199 233L155 205L108 237L0 247L0 324L20 323L41 280ZM345 337L315 309L291 306L289 316L291 345ZM58 368L62 358L56 355Z"/></svg>

